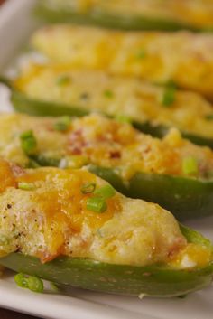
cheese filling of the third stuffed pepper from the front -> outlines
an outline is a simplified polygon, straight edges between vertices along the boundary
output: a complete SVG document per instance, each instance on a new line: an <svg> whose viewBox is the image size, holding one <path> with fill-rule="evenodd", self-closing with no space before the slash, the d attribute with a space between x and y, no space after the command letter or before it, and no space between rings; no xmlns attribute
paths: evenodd
<svg viewBox="0 0 213 319"><path fill-rule="evenodd" d="M32 63L22 70L14 87L28 98L100 110L113 116L125 115L136 121L149 121L153 126L177 127L213 138L213 108L207 100L190 91L177 90L174 102L164 106L166 88L139 79Z"/></svg>

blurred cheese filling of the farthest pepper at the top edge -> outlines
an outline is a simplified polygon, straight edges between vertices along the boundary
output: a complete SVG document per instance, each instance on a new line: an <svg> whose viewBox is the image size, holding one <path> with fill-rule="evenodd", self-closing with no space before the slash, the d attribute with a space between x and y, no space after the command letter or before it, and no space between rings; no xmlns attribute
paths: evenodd
<svg viewBox="0 0 213 319"><path fill-rule="evenodd" d="M211 0L46 0L52 9L68 8L78 13L106 13L131 16L142 15L156 19L169 19L192 26L213 26Z"/></svg>

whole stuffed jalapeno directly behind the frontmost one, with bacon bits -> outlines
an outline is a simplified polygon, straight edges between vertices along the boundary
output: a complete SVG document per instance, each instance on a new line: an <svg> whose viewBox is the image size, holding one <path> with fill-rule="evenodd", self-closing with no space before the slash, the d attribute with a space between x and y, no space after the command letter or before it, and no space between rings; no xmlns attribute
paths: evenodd
<svg viewBox="0 0 213 319"><path fill-rule="evenodd" d="M129 197L157 202L179 220L213 213L213 152L183 139L162 139L128 123L88 117L0 117L0 155L26 166L82 167Z"/></svg>

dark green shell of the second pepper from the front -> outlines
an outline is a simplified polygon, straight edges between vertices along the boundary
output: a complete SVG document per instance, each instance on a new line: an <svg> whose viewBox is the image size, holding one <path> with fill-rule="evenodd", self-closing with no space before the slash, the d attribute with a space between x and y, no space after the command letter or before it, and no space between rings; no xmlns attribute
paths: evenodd
<svg viewBox="0 0 213 319"><path fill-rule="evenodd" d="M196 219L213 214L213 181L138 172L125 183L112 168L89 165L88 169L126 196L159 203L171 211L177 220Z"/></svg>

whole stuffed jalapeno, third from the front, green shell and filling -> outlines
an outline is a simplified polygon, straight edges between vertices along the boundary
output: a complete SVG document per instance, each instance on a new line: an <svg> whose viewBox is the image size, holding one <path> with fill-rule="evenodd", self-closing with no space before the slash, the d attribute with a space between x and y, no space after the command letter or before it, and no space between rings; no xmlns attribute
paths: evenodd
<svg viewBox="0 0 213 319"><path fill-rule="evenodd" d="M213 108L197 93L102 71L34 63L23 68L10 85L19 112L83 116L96 110L110 117L127 117L134 127L157 137L177 127L193 143L213 148Z"/></svg>

